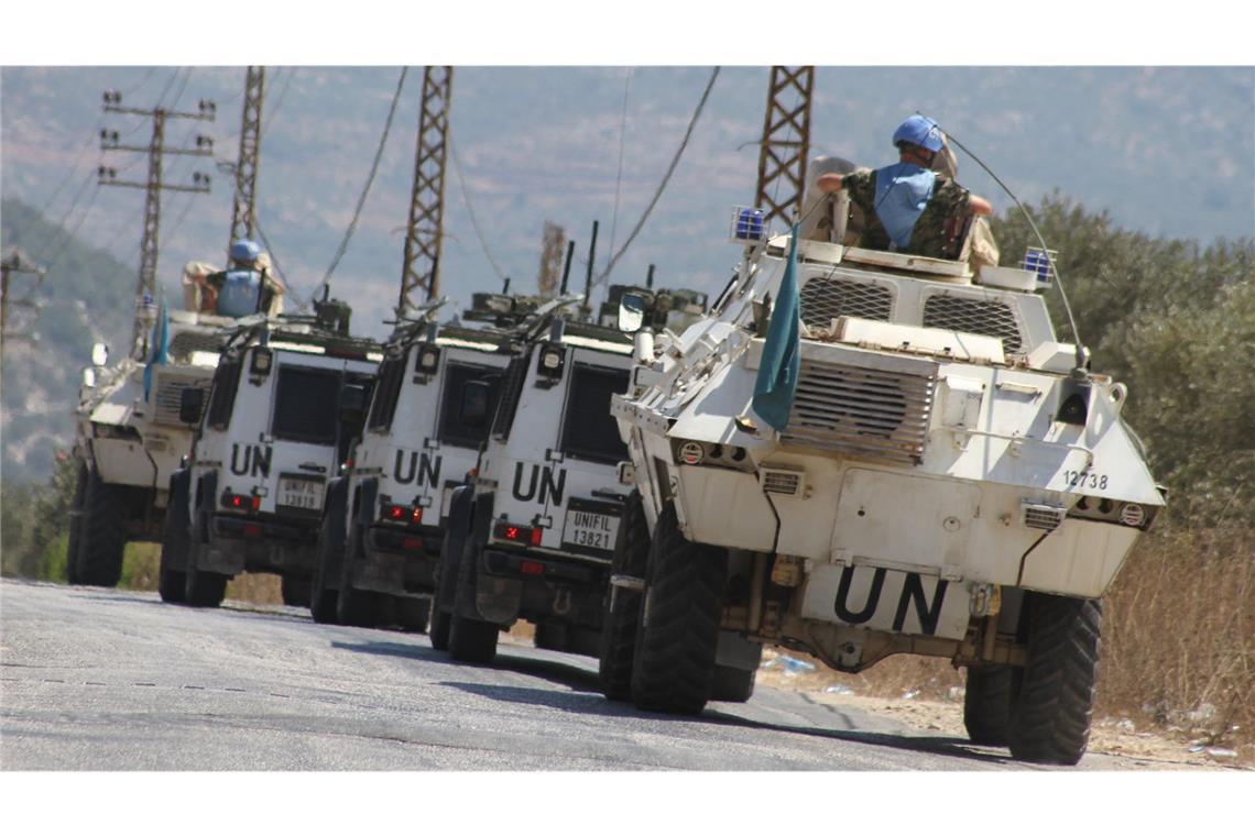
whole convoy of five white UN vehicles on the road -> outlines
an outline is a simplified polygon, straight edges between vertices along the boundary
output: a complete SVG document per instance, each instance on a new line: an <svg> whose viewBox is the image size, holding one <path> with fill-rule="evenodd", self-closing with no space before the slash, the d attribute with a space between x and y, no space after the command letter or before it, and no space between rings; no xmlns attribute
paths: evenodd
<svg viewBox="0 0 1255 836"><path fill-rule="evenodd" d="M1127 392L1055 335L1049 253L863 249L840 196L807 206L826 222L788 234L737 213L709 306L476 295L382 343L329 302L149 317L85 372L70 580L115 584L124 543L161 536L166 602L271 572L316 622L474 663L526 620L669 713L748 699L766 645L850 673L940 657L974 742L1074 763L1101 598L1163 504Z"/></svg>

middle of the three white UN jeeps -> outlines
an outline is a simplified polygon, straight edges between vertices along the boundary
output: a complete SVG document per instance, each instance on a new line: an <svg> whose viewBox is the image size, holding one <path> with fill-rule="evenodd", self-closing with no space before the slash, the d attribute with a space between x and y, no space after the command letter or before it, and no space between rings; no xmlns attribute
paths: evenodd
<svg viewBox="0 0 1255 836"><path fill-rule="evenodd" d="M518 327L540 303L476 293L463 322L477 326L438 325L443 301L397 325L351 465L328 486L314 620L427 629L449 498L488 436L487 421L461 419L463 394L482 385L496 409Z"/></svg>

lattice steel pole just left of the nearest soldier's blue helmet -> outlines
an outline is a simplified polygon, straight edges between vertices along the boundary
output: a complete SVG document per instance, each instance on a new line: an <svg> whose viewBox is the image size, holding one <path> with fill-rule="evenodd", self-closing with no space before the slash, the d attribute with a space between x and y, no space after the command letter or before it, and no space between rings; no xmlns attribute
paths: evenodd
<svg viewBox="0 0 1255 836"><path fill-rule="evenodd" d="M811 154L813 66L773 66L758 148L758 192L763 227L779 218L792 224L802 209L806 159Z"/></svg>

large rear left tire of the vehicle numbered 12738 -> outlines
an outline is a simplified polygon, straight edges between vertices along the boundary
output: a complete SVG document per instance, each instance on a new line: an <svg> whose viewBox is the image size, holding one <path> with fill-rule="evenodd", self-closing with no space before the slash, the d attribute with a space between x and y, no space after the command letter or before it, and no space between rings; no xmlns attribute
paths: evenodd
<svg viewBox="0 0 1255 836"><path fill-rule="evenodd" d="M631 677L638 708L697 714L710 698L728 553L690 543L674 505L658 518Z"/></svg>

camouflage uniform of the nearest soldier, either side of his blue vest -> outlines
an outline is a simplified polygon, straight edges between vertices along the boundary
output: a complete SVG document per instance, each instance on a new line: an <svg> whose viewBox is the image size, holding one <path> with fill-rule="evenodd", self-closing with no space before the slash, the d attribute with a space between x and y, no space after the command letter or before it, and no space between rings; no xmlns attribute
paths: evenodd
<svg viewBox="0 0 1255 836"><path fill-rule="evenodd" d="M889 233L876 217L876 172L846 174L841 187L850 193L851 203L862 209L866 218L860 246L866 249L890 249ZM932 197L911 231L911 243L897 252L951 261L958 258L969 197L968 189L949 177L937 174Z"/></svg>

